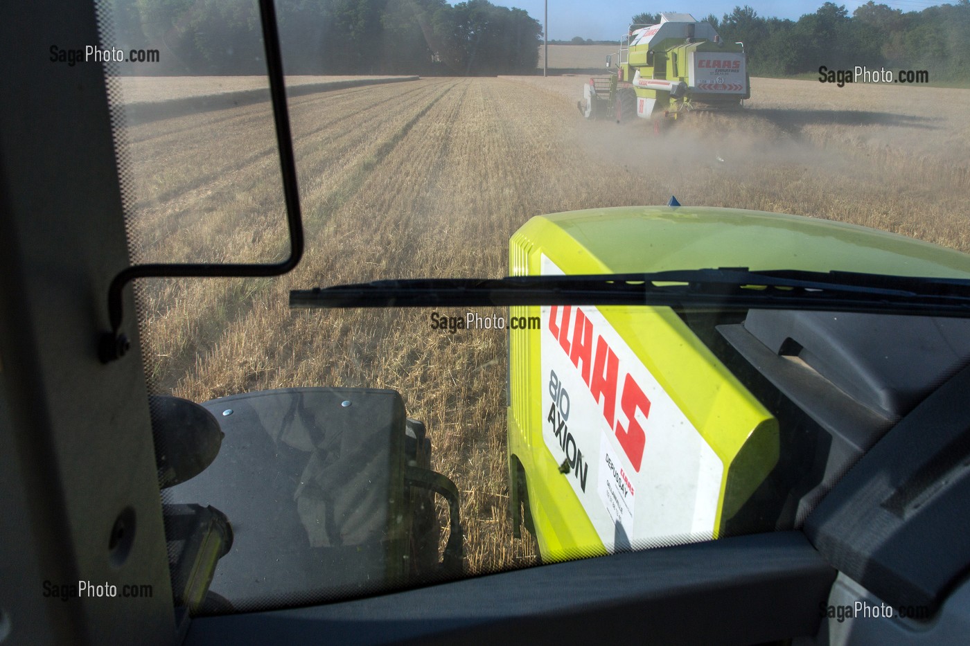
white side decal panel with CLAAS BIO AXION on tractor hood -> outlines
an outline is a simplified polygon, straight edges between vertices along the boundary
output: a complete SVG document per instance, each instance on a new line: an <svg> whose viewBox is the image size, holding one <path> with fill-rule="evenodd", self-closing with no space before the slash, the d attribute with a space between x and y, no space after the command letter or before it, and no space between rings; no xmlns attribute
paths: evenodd
<svg viewBox="0 0 970 646"><path fill-rule="evenodd" d="M542 438L606 548L711 537L714 450L597 307L540 311Z"/></svg>

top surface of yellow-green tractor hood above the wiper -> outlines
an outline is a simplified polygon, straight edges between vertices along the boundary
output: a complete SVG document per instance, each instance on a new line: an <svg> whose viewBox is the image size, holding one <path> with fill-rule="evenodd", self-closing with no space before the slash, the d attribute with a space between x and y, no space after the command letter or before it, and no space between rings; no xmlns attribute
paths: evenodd
<svg viewBox="0 0 970 646"><path fill-rule="evenodd" d="M620 207L533 217L516 234L567 274L716 267L970 276L970 256L842 222L757 210ZM528 243L528 242L526 242ZM518 272L513 275L532 274Z"/></svg>

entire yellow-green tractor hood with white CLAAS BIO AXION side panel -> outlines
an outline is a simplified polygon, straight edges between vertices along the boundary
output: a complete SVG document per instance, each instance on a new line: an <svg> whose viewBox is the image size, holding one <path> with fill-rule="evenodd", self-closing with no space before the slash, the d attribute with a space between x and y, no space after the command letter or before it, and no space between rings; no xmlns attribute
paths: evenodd
<svg viewBox="0 0 970 646"><path fill-rule="evenodd" d="M534 217L512 275L704 268L970 277L970 256L751 210L638 207ZM513 307L509 468L543 558L723 535L779 459L775 417L669 307ZM513 504L518 496L513 492ZM732 526L733 527L733 526Z"/></svg>

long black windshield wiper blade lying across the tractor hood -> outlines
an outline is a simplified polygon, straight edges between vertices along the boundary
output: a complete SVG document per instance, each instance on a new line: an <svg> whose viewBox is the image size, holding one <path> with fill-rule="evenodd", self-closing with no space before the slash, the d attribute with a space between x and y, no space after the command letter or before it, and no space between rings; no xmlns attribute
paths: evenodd
<svg viewBox="0 0 970 646"><path fill-rule="evenodd" d="M290 292L290 307L668 306L970 317L970 280L721 268L652 274L418 278Z"/></svg>

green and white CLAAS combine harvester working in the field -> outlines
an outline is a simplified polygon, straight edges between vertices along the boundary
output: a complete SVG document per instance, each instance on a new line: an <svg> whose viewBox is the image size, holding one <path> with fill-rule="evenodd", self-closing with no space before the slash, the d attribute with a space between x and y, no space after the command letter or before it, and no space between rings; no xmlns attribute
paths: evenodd
<svg viewBox="0 0 970 646"><path fill-rule="evenodd" d="M615 73L583 86L576 105L586 118L620 122L635 113L653 120L656 130L660 117L738 108L751 97L744 45L725 43L710 23L690 14L661 14L660 24L630 25L616 59Z"/></svg>

